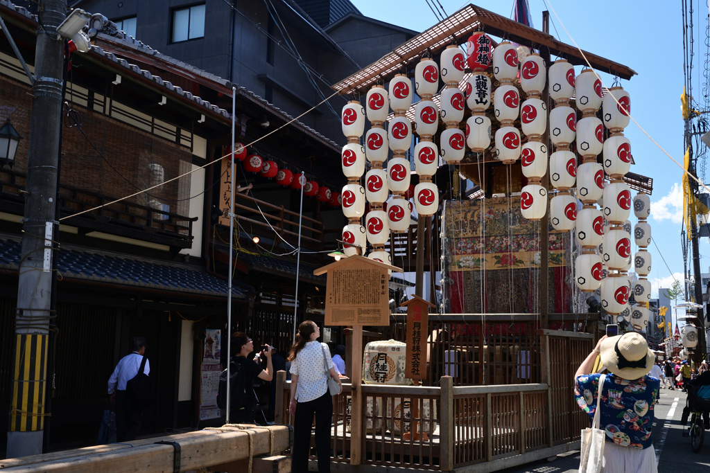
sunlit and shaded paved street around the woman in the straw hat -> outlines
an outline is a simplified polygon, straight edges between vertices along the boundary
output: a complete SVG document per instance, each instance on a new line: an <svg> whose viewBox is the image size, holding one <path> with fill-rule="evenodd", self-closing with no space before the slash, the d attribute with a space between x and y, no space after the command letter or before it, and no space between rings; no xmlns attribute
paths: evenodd
<svg viewBox="0 0 710 473"><path fill-rule="evenodd" d="M653 445L659 473L708 472L710 467L710 431L699 453L693 453L690 438L683 437L680 416L685 406L685 393L661 389L660 404L655 408ZM524 467L504 470L506 473L572 473L579 469L579 452L559 455L554 462L542 460Z"/></svg>

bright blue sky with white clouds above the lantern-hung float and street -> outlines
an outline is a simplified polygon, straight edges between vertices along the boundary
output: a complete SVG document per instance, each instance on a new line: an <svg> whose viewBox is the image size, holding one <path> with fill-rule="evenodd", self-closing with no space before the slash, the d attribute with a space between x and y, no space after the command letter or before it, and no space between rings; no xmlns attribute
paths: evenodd
<svg viewBox="0 0 710 473"><path fill-rule="evenodd" d="M352 0L366 15L398 26L422 31L430 28L437 19L425 0ZM436 1L436 0L434 0ZM459 0L439 0L450 15L468 4ZM528 0L535 28L542 28L542 11L548 9L543 0ZM701 96L701 79L704 69L705 30L708 26L708 8L704 1L694 4L695 56L693 93ZM500 15L510 17L513 0L479 0L476 5ZM550 5L550 2L547 2ZM631 95L632 116L649 135L674 159L682 163L683 121L680 115L679 96L683 91L682 11L679 1L618 1L618 0L552 0L559 19L580 48L627 65L638 75L621 85ZM572 44L554 13L550 10L552 24L557 27L559 40ZM557 36L551 25L552 35ZM575 67L577 73L581 67ZM613 77L601 74L607 87ZM652 211L649 220L652 235L669 269L658 250L652 245L652 281L654 294L657 287L667 287L675 277L682 280L683 259L680 245L682 222L682 171L654 145L632 122L625 130L631 140L636 165L632 172L653 178ZM706 182L710 180L710 169ZM633 212L631 221L635 223ZM634 248L636 250L636 248ZM701 270L708 272L710 244L701 241Z"/></svg>

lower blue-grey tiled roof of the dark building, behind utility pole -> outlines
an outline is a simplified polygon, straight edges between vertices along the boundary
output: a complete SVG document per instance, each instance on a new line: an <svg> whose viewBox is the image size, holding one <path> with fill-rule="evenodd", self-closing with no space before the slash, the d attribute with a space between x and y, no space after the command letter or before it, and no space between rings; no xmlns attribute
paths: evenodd
<svg viewBox="0 0 710 473"><path fill-rule="evenodd" d="M19 241L0 238L0 268L17 269L20 254ZM57 260L58 272L69 279L226 296L227 285L222 279L181 266L63 248L58 251ZM232 286L232 294L242 298L244 289Z"/></svg>

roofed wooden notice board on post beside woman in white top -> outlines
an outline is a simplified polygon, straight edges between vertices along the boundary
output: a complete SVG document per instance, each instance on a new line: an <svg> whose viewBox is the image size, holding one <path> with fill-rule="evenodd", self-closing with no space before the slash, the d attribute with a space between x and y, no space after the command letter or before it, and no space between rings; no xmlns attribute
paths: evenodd
<svg viewBox="0 0 710 473"><path fill-rule="evenodd" d="M351 256L316 269L313 274L327 273L325 291L325 325L352 325L350 464L362 462L362 326L389 325L389 274L402 269Z"/></svg>

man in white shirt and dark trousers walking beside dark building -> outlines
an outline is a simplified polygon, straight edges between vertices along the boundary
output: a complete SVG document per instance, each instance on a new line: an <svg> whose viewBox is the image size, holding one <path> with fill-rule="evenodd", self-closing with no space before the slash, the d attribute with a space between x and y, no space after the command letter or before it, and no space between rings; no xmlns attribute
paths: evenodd
<svg viewBox="0 0 710 473"><path fill-rule="evenodd" d="M111 402L116 403L116 441L130 442L135 440L143 423L143 411L136 411L126 394L126 383L136 377L141 369L143 355L146 353L146 338L133 337L133 352L121 358L114 373L109 378L109 395ZM151 372L151 365L146 358L145 374Z"/></svg>

